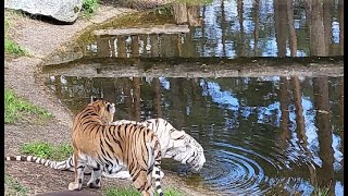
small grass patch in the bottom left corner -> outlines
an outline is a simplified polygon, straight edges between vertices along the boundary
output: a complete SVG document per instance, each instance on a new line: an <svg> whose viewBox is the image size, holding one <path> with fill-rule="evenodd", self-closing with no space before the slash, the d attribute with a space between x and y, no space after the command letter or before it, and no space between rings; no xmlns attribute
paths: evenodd
<svg viewBox="0 0 348 196"><path fill-rule="evenodd" d="M27 195L28 189L20 184L11 175L4 175L4 195L22 196Z"/></svg>

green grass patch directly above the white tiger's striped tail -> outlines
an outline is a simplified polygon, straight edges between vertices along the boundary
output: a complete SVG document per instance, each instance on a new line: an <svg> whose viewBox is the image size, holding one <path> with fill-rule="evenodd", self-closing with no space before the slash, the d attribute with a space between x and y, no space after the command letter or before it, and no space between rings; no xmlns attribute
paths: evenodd
<svg viewBox="0 0 348 196"><path fill-rule="evenodd" d="M21 152L45 159L63 160L73 154L73 147L70 144L54 146L50 143L36 140L23 145Z"/></svg>

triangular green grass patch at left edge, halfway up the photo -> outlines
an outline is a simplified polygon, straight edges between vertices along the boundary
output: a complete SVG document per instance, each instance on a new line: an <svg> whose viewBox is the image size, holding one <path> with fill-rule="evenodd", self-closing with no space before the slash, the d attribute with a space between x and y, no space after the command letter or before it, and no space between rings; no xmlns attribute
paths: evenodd
<svg viewBox="0 0 348 196"><path fill-rule="evenodd" d="M4 123L15 123L24 119L42 122L51 118L52 114L48 111L18 98L11 89L4 89Z"/></svg>

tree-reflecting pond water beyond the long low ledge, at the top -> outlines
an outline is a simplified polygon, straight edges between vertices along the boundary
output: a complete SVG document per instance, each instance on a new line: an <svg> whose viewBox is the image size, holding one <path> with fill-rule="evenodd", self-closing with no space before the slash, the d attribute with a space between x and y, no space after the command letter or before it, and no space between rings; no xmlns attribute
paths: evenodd
<svg viewBox="0 0 348 196"><path fill-rule="evenodd" d="M157 14L188 24L190 33L97 37L85 41L85 54L119 58L344 54L343 0L213 0L206 5L174 3Z"/></svg>

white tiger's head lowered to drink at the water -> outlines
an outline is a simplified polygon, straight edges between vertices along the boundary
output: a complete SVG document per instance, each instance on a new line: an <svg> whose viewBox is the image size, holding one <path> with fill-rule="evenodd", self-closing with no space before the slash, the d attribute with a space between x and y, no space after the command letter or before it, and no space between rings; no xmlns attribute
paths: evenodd
<svg viewBox="0 0 348 196"><path fill-rule="evenodd" d="M165 157L189 166L194 173L203 168L206 163L203 148L192 136L184 131L175 131L171 134L171 140L173 145L167 149Z"/></svg>

